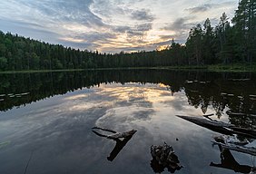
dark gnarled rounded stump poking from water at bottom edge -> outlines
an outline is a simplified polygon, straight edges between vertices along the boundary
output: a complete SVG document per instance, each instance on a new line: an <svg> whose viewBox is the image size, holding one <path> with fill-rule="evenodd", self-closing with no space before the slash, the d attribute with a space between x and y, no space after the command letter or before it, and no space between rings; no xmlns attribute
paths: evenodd
<svg viewBox="0 0 256 174"><path fill-rule="evenodd" d="M151 155L153 157L151 167L156 173L161 173L165 168L171 173L182 169L178 157L174 154L174 150L165 142L162 146L151 146Z"/></svg>

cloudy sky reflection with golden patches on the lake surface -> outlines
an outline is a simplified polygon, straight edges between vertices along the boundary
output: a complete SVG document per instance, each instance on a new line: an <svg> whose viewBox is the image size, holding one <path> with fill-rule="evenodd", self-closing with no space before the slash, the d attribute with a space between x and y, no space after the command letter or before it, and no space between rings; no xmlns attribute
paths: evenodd
<svg viewBox="0 0 256 174"><path fill-rule="evenodd" d="M189 105L184 91L170 89L152 83L101 84L1 111L0 143L8 143L0 146L0 173L23 173L32 152L27 173L153 173L150 147L163 141L184 166L177 173L234 173L210 167L220 161L220 150L211 142L217 133L175 117L203 113ZM214 110L209 107L207 113ZM137 132L110 162L106 157L115 142L95 136L94 126ZM252 166L250 156L232 154Z"/></svg>

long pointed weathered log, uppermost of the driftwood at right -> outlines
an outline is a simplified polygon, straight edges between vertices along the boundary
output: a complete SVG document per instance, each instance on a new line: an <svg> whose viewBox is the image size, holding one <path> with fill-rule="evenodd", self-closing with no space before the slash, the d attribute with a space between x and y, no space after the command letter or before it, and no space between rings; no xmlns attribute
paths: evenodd
<svg viewBox="0 0 256 174"><path fill-rule="evenodd" d="M226 135L239 134L244 137L256 139L256 131L255 130L236 127L233 124L225 123L222 121L206 120L206 119L203 119L200 117L181 116L181 115L177 115L177 117L180 117L186 121L191 121L192 123L195 123L199 126L207 128L211 131L216 131L216 132L226 134Z"/></svg>

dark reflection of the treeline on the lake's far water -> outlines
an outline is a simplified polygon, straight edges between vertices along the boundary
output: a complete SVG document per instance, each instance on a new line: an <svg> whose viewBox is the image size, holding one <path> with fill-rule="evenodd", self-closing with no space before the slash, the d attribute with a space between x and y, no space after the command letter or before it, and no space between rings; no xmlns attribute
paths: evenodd
<svg viewBox="0 0 256 174"><path fill-rule="evenodd" d="M167 70L113 70L64 73L0 74L0 111L57 94L102 83L162 83L172 95L185 92L188 103L205 113L212 107L218 117L226 108L232 124L256 129L256 74L179 72ZM246 79L246 81L242 81ZM22 95L25 94L25 95Z"/></svg>

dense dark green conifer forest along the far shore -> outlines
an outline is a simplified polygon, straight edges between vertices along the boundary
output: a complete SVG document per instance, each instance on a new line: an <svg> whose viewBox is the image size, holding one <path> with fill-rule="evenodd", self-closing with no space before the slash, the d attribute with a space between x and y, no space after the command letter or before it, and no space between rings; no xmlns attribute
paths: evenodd
<svg viewBox="0 0 256 174"><path fill-rule="evenodd" d="M231 23L225 13L215 27L207 18L185 44L172 40L165 50L137 53L81 51L0 31L0 71L255 63L255 17L255 0L241 0Z"/></svg>

